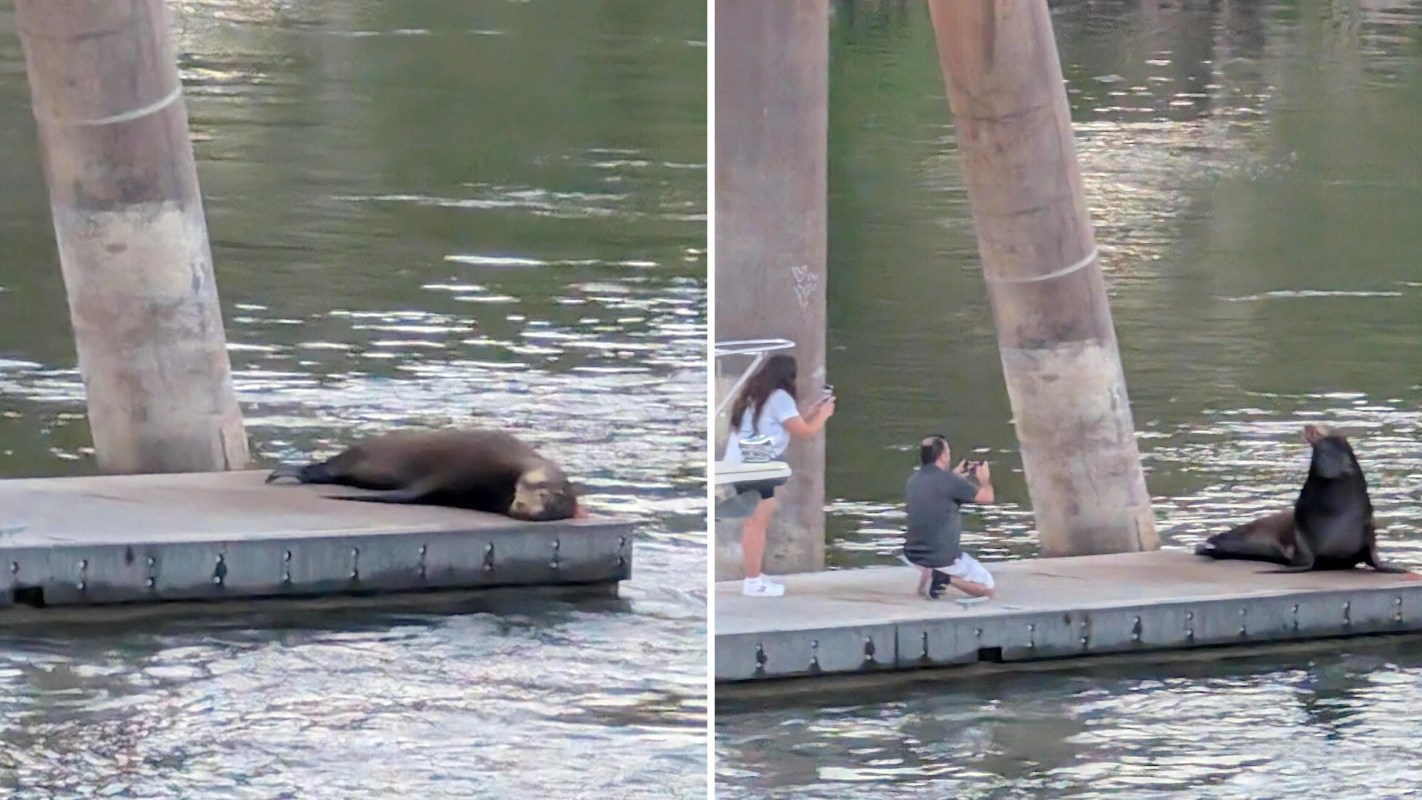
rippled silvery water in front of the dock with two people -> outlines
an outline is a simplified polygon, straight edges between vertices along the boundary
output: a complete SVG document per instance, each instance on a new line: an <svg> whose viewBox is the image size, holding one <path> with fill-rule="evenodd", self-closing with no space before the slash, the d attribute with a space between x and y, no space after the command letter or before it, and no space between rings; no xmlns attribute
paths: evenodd
<svg viewBox="0 0 1422 800"><path fill-rule="evenodd" d="M1398 797L1419 664L1375 641L718 701L718 796Z"/></svg>

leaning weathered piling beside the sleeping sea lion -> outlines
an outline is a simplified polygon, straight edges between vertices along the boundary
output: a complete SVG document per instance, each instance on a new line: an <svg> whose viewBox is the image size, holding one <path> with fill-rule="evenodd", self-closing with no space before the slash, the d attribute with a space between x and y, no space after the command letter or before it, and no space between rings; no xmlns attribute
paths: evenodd
<svg viewBox="0 0 1422 800"><path fill-rule="evenodd" d="M247 443L164 0L16 0L98 467Z"/></svg>

